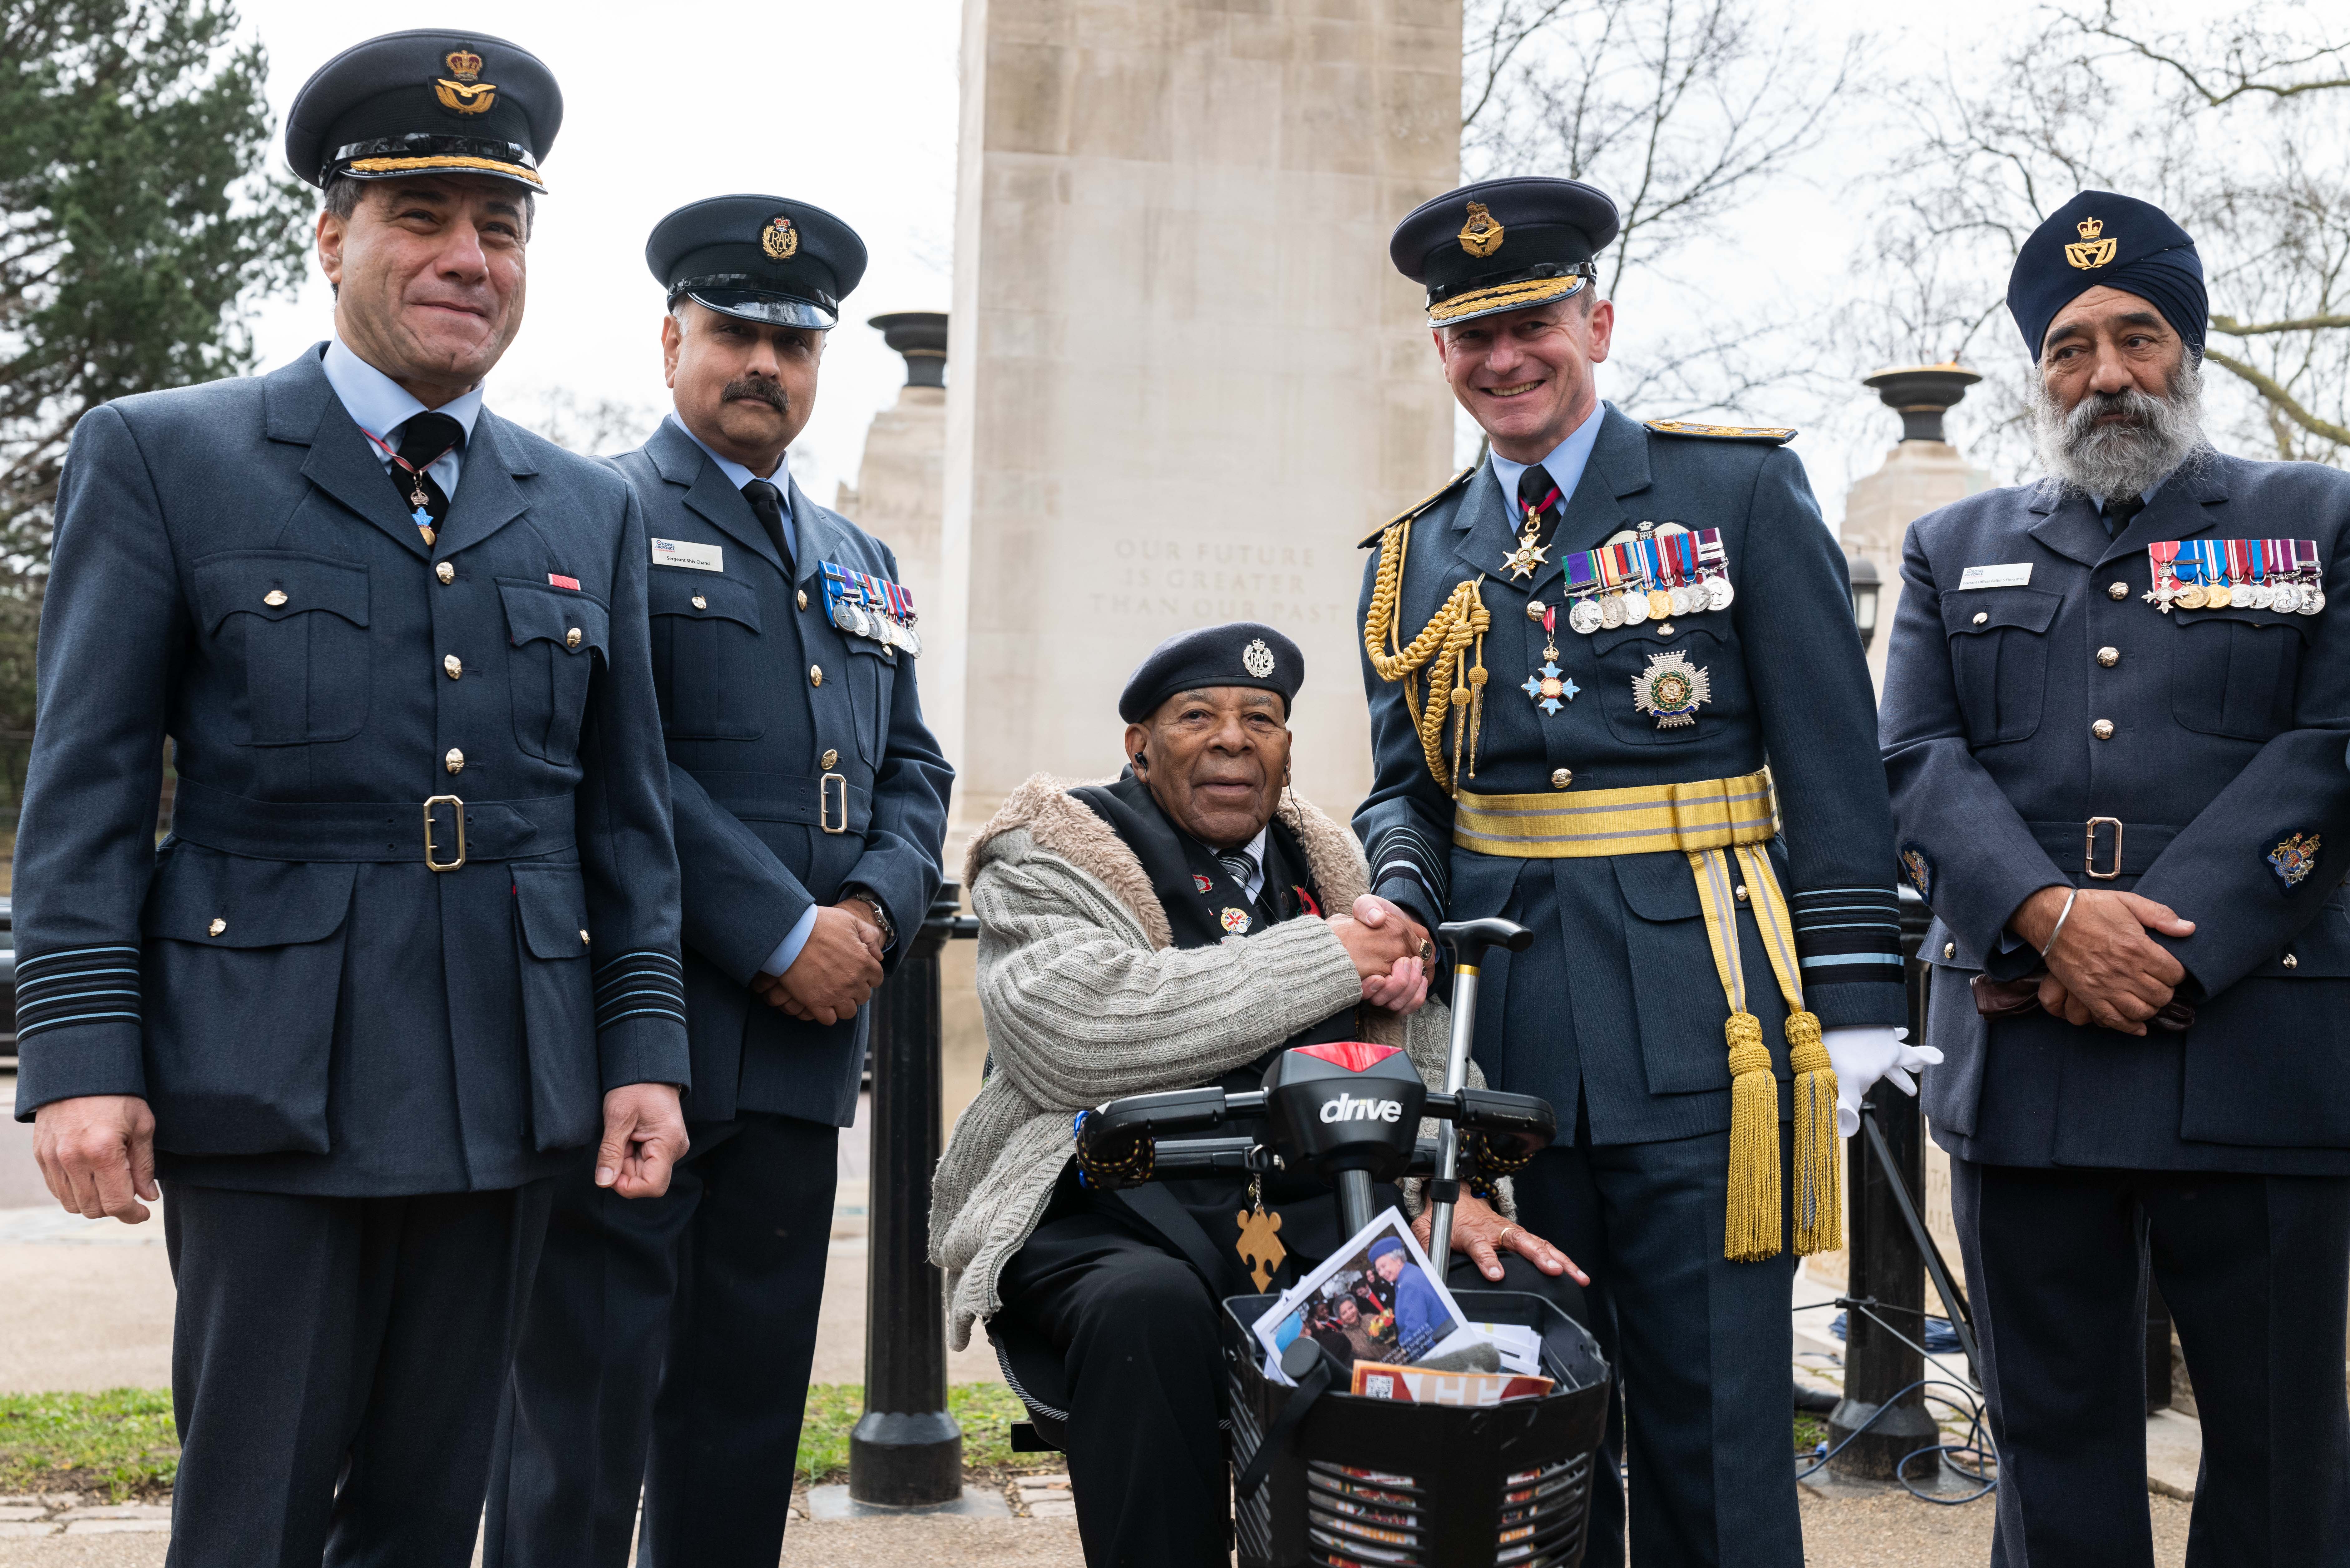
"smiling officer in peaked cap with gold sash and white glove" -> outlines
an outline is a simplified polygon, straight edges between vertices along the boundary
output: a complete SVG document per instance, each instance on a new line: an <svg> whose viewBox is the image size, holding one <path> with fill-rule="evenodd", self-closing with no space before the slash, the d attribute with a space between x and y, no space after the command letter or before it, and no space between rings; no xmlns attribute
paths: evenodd
<svg viewBox="0 0 2350 1568"><path fill-rule="evenodd" d="M1842 1244L1838 1121L1922 1060L1896 1027L1892 813L1795 433L1598 400L1614 235L1567 179L1396 226L1492 451L1363 541L1377 776L1354 827L1415 919L1535 931L1485 959L1478 1060L1572 1128L1518 1213L1591 1272L1633 1561L1795 1568L1791 1272ZM1624 1561L1624 1523L1596 1488L1589 1561Z"/></svg>

